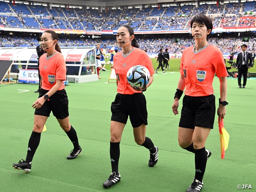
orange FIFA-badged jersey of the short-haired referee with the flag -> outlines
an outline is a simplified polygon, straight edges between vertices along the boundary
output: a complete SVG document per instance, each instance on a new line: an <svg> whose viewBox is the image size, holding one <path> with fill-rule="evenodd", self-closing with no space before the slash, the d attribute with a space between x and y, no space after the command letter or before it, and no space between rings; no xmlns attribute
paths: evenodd
<svg viewBox="0 0 256 192"><path fill-rule="evenodd" d="M186 82L185 95L208 96L213 94L212 82L217 77L228 76L222 52L211 44L197 52L194 46L186 48L180 61L180 74Z"/></svg>

